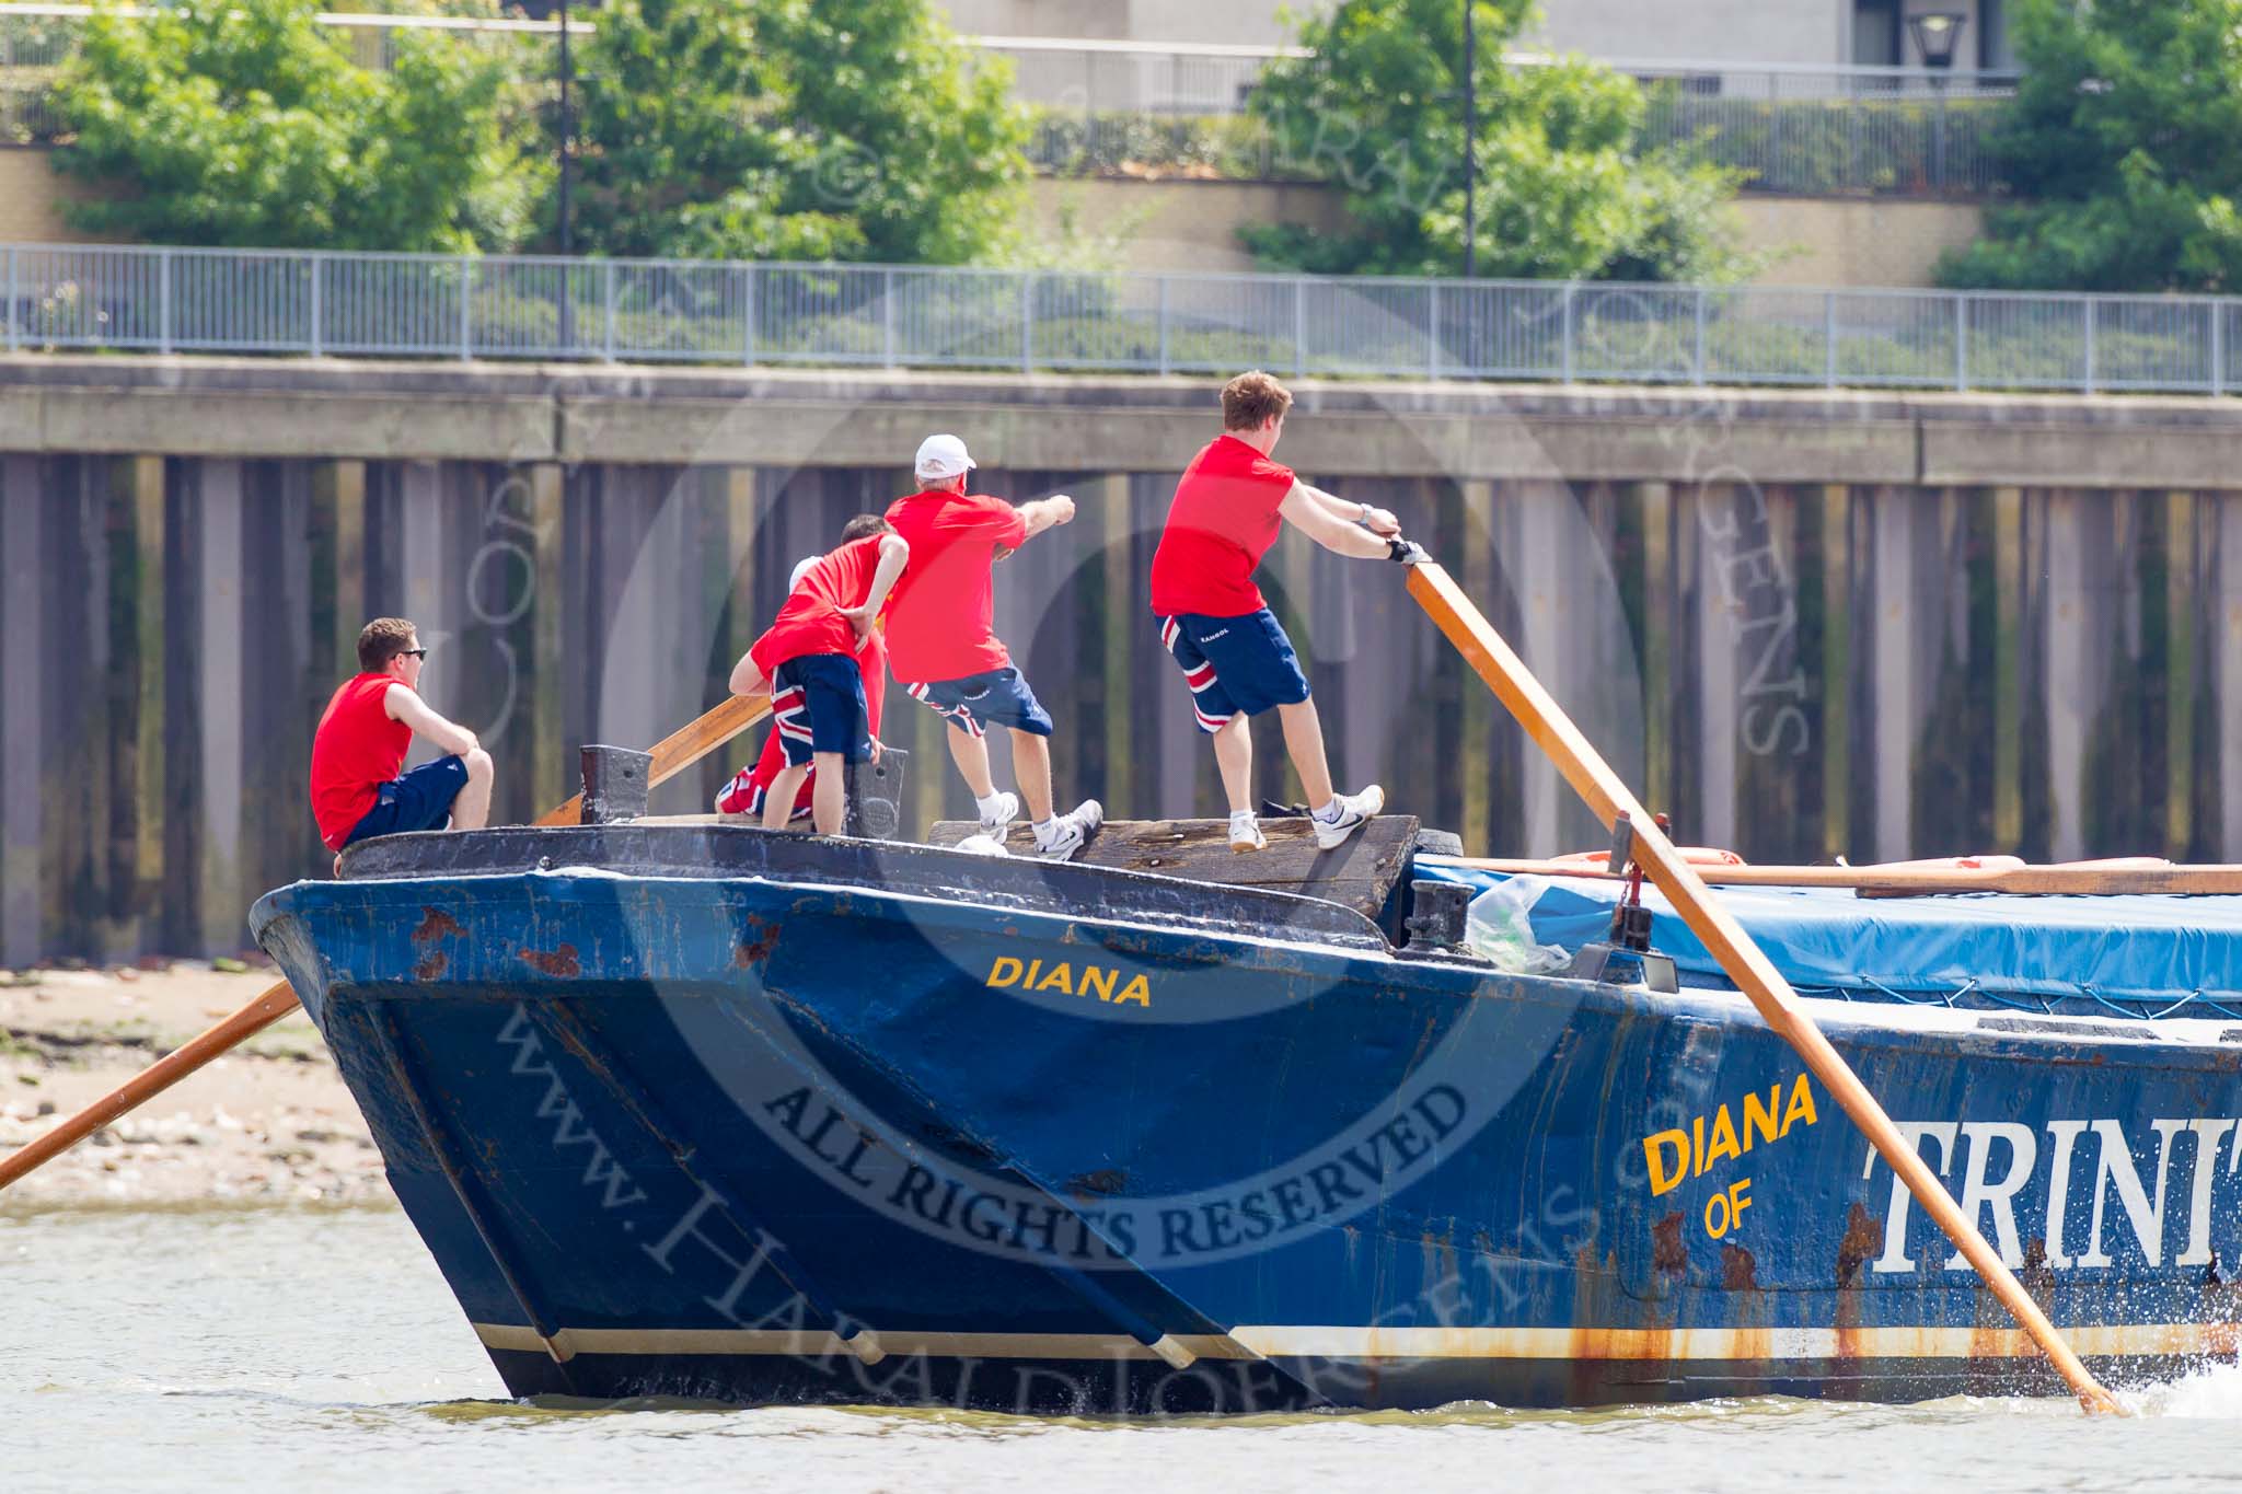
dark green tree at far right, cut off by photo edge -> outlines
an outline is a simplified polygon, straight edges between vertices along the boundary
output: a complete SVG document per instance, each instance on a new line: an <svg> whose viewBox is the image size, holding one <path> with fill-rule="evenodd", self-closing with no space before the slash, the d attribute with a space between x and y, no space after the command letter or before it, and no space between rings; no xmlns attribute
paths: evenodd
<svg viewBox="0 0 2242 1494"><path fill-rule="evenodd" d="M1946 284L2242 284L2242 0L2025 0L2025 81L1995 134L2018 202Z"/></svg>

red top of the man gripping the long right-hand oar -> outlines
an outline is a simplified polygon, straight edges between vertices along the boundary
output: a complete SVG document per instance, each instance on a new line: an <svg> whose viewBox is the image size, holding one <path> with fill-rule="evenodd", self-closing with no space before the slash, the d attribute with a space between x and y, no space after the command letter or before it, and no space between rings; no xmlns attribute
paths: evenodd
<svg viewBox="0 0 2242 1494"><path fill-rule="evenodd" d="M1175 484L1152 551L1152 611L1235 618L1267 607L1253 569L1285 526L1276 511L1291 482L1289 466L1233 435L1208 441Z"/></svg>

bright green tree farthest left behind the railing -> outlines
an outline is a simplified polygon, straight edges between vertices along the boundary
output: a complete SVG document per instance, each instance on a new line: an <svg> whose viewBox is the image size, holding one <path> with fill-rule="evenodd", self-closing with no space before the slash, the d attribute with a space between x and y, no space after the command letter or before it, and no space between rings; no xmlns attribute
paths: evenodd
<svg viewBox="0 0 2242 1494"><path fill-rule="evenodd" d="M168 244L495 251L543 161L507 139L507 54L399 34L359 67L316 0L99 11L56 85L56 170L99 181L72 224Z"/></svg>

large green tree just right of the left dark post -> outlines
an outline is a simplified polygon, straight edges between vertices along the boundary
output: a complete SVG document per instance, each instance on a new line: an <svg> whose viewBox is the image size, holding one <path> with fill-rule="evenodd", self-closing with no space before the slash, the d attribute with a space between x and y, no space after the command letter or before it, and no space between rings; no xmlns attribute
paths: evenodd
<svg viewBox="0 0 2242 1494"><path fill-rule="evenodd" d="M957 264L1016 235L1027 119L926 0L614 0L583 58L594 253Z"/></svg>

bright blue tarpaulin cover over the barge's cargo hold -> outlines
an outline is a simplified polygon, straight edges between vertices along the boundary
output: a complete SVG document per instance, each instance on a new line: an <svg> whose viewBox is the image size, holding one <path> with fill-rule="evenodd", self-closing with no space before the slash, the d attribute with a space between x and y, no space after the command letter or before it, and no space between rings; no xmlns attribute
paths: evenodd
<svg viewBox="0 0 2242 1494"><path fill-rule="evenodd" d="M1435 856L1419 856L1417 874L1477 889L1504 880ZM1534 903L1534 936L1567 950L1608 939L1623 891L1623 883L1551 880ZM2193 997L2242 1012L2242 896L1856 898L1823 887L1715 894L1803 992L1982 995L2029 1006L2085 997L2155 1008ZM1731 986L1650 885L1643 905L1652 909L1652 947L1675 959L1684 986Z"/></svg>

